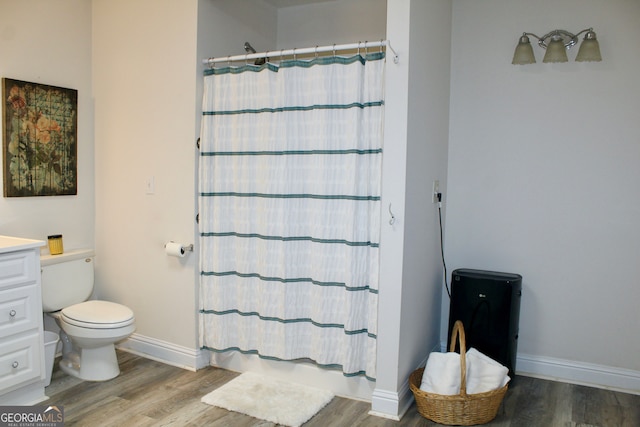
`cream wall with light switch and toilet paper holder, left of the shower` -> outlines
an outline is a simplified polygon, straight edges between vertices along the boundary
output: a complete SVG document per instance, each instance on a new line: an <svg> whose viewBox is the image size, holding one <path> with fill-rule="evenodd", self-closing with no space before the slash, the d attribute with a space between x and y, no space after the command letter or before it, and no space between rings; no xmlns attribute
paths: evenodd
<svg viewBox="0 0 640 427"><path fill-rule="evenodd" d="M134 337L197 347L193 243L197 0L93 1L96 286ZM147 194L147 180L154 194Z"/></svg>

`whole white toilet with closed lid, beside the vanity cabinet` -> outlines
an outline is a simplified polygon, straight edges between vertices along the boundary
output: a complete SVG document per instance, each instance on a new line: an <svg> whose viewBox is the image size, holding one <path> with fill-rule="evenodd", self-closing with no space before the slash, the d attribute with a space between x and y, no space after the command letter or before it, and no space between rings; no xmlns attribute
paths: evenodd
<svg viewBox="0 0 640 427"><path fill-rule="evenodd" d="M93 292L92 249L41 255L42 310L60 327L60 368L88 381L106 381L120 374L115 343L135 331L129 307L89 300Z"/></svg>

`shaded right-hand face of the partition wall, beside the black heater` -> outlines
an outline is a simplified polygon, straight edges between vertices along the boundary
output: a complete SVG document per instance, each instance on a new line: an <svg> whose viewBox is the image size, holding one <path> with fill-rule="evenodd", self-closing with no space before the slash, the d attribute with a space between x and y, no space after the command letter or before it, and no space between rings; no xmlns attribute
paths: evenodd
<svg viewBox="0 0 640 427"><path fill-rule="evenodd" d="M410 16L405 273L398 331L402 382L439 344L444 288L438 204L432 193L434 180L447 192L451 2L412 0ZM444 209L442 215L444 221Z"/></svg>

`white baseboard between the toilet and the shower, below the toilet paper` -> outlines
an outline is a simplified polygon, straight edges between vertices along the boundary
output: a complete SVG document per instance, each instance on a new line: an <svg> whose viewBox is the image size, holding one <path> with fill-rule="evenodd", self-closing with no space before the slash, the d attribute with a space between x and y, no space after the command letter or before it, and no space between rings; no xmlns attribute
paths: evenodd
<svg viewBox="0 0 640 427"><path fill-rule="evenodd" d="M209 366L209 354L207 351L183 347L135 333L120 342L116 347L118 350L190 371L197 371Z"/></svg>

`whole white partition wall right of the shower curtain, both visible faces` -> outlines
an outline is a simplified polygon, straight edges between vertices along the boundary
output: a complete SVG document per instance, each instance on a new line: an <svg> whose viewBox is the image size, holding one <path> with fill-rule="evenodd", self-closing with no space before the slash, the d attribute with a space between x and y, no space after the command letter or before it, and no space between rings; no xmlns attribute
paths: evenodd
<svg viewBox="0 0 640 427"><path fill-rule="evenodd" d="M372 409L401 416L408 378L439 344L442 268L432 182L446 189L449 35L447 0L389 0L380 242L378 378ZM396 223L388 225L391 206Z"/></svg>

